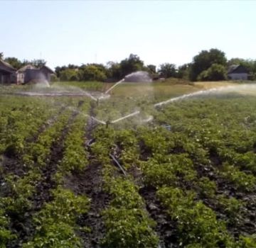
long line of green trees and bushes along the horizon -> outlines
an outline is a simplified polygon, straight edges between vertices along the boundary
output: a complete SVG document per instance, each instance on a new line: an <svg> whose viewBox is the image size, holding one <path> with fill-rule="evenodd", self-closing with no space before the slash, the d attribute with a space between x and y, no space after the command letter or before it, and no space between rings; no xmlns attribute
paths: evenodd
<svg viewBox="0 0 256 248"><path fill-rule="evenodd" d="M4 55L1 52L0 58ZM33 64L41 67L46 64L45 60L24 60L21 62L16 57L6 57L4 61L18 69L26 64ZM68 64L67 66L55 67L56 77L61 81L117 81L127 74L137 71L149 72L153 79L178 78L189 81L218 81L228 79L228 67L233 64L240 64L247 69L250 79L256 80L256 60L245 60L242 58L232 58L225 56L225 52L212 48L202 50L193 57L192 62L176 66L166 62L156 69L154 64L145 64L138 55L131 54L120 62L107 62L107 64Z"/></svg>

